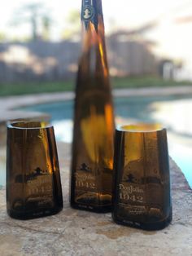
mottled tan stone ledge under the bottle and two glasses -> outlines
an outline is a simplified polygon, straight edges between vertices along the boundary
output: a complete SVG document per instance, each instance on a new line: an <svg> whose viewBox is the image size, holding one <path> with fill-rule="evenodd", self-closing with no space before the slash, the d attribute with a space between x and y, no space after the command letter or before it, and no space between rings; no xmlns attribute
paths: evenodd
<svg viewBox="0 0 192 256"><path fill-rule="evenodd" d="M170 159L172 224L162 231L144 232L116 225L111 214L72 210L68 203L70 148L59 143L63 211L29 221L6 213L5 188L0 190L0 255L192 255L192 192L181 170Z"/></svg>

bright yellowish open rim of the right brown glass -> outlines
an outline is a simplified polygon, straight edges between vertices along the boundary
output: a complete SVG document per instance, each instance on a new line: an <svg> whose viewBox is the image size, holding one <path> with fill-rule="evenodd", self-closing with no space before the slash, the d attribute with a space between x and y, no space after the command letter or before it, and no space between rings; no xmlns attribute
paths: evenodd
<svg viewBox="0 0 192 256"><path fill-rule="evenodd" d="M166 128L159 123L144 122L129 125L120 125L116 128L116 131L129 133L153 133L163 130L166 130Z"/></svg>

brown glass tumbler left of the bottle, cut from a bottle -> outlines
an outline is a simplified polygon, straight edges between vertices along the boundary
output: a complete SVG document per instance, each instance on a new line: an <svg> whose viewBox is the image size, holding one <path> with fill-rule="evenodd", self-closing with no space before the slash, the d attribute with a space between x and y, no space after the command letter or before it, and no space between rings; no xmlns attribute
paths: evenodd
<svg viewBox="0 0 192 256"><path fill-rule="evenodd" d="M63 208L53 126L19 121L7 126L7 213L28 219Z"/></svg>

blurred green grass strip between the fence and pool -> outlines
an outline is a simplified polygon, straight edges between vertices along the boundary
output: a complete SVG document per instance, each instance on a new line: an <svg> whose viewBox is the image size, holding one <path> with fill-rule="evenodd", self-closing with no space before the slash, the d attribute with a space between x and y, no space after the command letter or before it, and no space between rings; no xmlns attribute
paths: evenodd
<svg viewBox="0 0 192 256"><path fill-rule="evenodd" d="M111 79L113 88L142 88L191 85L192 82L165 81L159 77L116 77ZM0 85L0 96L27 95L43 92L74 90L74 80L63 82L25 82Z"/></svg>

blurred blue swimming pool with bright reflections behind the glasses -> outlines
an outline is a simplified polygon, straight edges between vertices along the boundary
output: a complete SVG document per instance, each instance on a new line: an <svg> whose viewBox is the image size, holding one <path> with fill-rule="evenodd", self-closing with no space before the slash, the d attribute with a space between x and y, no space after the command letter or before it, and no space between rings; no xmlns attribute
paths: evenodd
<svg viewBox="0 0 192 256"><path fill-rule="evenodd" d="M114 104L117 124L158 121L168 129L169 154L181 167L192 187L192 95L185 98L175 95L120 97L114 100ZM67 143L72 141L71 100L22 109L49 113L56 138Z"/></svg>

